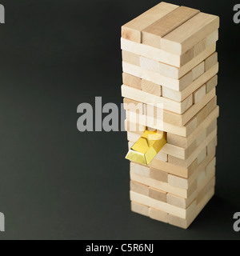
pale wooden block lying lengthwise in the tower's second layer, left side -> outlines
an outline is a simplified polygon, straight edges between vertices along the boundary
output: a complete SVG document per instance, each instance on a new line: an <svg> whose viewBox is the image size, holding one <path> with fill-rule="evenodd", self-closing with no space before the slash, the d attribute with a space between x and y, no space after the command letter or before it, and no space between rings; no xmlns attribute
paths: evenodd
<svg viewBox="0 0 240 256"><path fill-rule="evenodd" d="M138 54L146 58L154 59L158 62L163 62L172 66L180 67L181 56L170 54L165 50L157 49L152 46L146 46L142 43L132 42L121 38L121 49L129 51L133 54Z"/></svg>

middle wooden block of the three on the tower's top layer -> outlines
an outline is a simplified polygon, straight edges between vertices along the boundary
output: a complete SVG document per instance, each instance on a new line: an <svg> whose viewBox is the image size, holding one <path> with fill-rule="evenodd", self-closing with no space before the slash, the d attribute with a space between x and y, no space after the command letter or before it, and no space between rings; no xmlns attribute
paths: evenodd
<svg viewBox="0 0 240 256"><path fill-rule="evenodd" d="M142 30L142 43L161 48L160 42L162 37L169 34L172 30L198 13L199 10L194 10L185 6L178 7L170 12L170 14L166 14L157 22L154 22L146 29Z"/></svg>

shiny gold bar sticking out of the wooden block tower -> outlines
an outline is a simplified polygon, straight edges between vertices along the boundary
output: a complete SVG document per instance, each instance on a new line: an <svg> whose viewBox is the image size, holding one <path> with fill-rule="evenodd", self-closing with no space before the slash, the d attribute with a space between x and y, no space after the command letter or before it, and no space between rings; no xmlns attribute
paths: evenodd
<svg viewBox="0 0 240 256"><path fill-rule="evenodd" d="M126 159L147 166L165 144L165 132L146 130L126 154Z"/></svg>

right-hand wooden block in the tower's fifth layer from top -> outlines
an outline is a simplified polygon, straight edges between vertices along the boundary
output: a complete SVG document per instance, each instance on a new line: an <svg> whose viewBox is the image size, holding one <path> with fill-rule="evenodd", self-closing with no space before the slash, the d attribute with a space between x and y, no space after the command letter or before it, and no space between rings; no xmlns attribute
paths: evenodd
<svg viewBox="0 0 240 256"><path fill-rule="evenodd" d="M199 78L194 80L194 82L192 82L190 86L187 86L186 89L182 90L181 92L176 90L170 90L162 86L162 96L165 98L170 98L177 102L182 102L186 97L194 93L195 90L198 90L205 82L207 82L217 73L218 64L216 64L210 70L206 71Z"/></svg>

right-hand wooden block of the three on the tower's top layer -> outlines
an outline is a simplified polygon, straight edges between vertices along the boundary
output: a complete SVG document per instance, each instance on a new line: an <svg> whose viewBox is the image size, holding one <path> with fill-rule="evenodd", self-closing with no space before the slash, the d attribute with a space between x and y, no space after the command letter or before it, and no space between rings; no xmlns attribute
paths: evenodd
<svg viewBox="0 0 240 256"><path fill-rule="evenodd" d="M218 27L218 16L199 13L161 38L161 48L172 54L184 54L209 34L218 30Z"/></svg>

